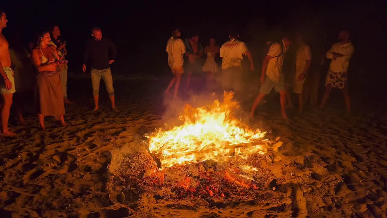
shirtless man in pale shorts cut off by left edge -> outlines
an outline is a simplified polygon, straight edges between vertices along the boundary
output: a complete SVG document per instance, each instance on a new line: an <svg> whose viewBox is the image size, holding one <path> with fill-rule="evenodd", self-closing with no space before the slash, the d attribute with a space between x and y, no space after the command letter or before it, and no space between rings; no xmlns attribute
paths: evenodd
<svg viewBox="0 0 387 218"><path fill-rule="evenodd" d="M9 55L8 42L2 34L3 28L7 27L7 16L0 9L0 93L1 104L1 134L15 136L16 133L9 131L8 119L12 105L12 98L15 93L14 71L10 68L11 57Z"/></svg>

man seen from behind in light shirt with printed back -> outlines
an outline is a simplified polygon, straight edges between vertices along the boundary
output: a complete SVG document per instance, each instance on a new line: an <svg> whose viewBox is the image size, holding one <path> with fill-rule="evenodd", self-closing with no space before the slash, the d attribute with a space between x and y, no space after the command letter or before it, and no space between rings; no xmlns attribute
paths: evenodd
<svg viewBox="0 0 387 218"><path fill-rule="evenodd" d="M253 58L246 44L238 40L239 34L235 30L229 33L230 40L220 48L219 57L222 59L222 89L233 90L238 94L241 90L242 59L246 55L250 61L250 70L254 70Z"/></svg>

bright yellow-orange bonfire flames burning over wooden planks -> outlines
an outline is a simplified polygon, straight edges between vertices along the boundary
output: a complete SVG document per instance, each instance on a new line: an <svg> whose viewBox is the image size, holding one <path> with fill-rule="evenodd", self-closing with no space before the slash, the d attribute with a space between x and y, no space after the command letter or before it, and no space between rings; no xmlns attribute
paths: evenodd
<svg viewBox="0 0 387 218"><path fill-rule="evenodd" d="M160 160L161 167L264 154L268 142L264 139L266 132L242 127L231 115L231 110L238 107L232 98L233 92L225 92L222 103L215 100L198 108L187 104L179 117L184 121L182 125L148 135L149 151Z"/></svg>

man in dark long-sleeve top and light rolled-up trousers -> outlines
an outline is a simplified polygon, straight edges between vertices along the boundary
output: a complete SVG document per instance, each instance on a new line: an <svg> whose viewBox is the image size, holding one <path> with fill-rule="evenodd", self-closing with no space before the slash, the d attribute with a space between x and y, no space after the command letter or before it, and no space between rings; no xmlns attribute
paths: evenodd
<svg viewBox="0 0 387 218"><path fill-rule="evenodd" d="M114 100L113 78L111 77L110 71L110 64L114 62L117 50L113 42L108 39L102 38L101 29L95 27L92 28L91 32L93 38L86 42L82 70L86 73L86 64L87 61L90 61L91 83L93 87L93 96L95 103L94 111L98 111L99 109L98 93L101 77L105 82L106 90L109 93L111 107L114 111L117 111Z"/></svg>

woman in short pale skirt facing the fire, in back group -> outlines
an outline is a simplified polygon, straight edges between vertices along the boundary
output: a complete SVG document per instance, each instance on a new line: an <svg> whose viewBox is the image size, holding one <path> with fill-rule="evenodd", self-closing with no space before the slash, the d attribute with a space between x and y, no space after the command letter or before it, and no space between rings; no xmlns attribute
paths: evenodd
<svg viewBox="0 0 387 218"><path fill-rule="evenodd" d="M219 66L215 61L215 57L218 57L220 53L219 46L215 45L215 39L210 39L210 44L204 48L204 54L207 55L205 59L203 72L207 74L207 90L211 89L211 83L214 79L214 74L219 72Z"/></svg>

